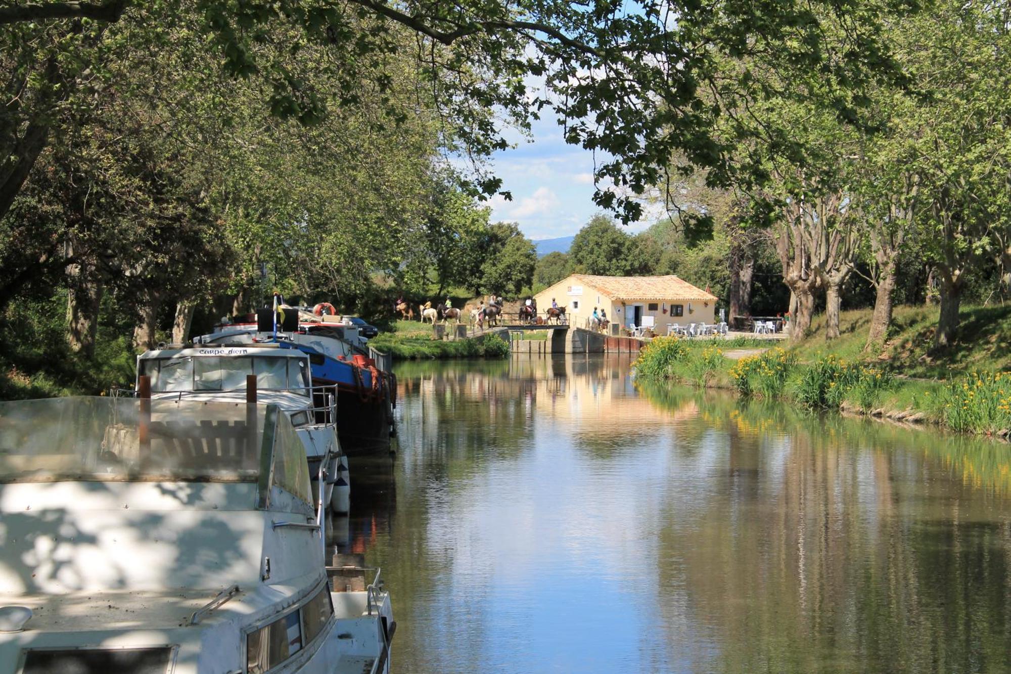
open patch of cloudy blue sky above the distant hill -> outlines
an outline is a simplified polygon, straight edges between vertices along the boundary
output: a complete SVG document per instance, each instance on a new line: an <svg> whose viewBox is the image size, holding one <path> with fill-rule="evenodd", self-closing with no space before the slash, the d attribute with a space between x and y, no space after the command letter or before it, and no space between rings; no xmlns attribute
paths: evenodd
<svg viewBox="0 0 1011 674"><path fill-rule="evenodd" d="M566 144L562 127L548 108L531 131L530 139L507 134L516 147L492 157L494 173L502 179L501 189L511 191L513 200L492 197L491 220L519 223L520 230L535 241L571 236L600 210L592 199L593 154ZM640 232L651 224L635 223L629 231Z"/></svg>

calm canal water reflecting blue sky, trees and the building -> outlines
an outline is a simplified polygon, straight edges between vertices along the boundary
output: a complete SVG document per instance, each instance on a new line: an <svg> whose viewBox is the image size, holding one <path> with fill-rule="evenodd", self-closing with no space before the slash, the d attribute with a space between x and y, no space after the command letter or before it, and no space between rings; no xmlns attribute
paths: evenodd
<svg viewBox="0 0 1011 674"><path fill-rule="evenodd" d="M1009 445L629 364L398 366L398 453L342 534L394 671L1011 670Z"/></svg>

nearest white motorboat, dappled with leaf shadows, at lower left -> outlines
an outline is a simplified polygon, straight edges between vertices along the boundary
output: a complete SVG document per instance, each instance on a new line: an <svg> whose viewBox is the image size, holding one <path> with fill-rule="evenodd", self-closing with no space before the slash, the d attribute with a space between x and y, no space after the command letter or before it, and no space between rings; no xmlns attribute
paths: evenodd
<svg viewBox="0 0 1011 674"><path fill-rule="evenodd" d="M309 484L276 405L0 403L0 673L388 672Z"/></svg>

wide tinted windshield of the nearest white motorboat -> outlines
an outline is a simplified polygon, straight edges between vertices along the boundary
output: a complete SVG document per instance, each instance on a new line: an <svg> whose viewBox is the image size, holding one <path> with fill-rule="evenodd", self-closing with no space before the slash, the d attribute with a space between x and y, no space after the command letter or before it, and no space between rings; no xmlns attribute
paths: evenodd
<svg viewBox="0 0 1011 674"><path fill-rule="evenodd" d="M145 407L145 406L148 407ZM276 408L135 398L0 403L0 483L259 482L310 502L297 434ZM269 429L265 433L264 428Z"/></svg>

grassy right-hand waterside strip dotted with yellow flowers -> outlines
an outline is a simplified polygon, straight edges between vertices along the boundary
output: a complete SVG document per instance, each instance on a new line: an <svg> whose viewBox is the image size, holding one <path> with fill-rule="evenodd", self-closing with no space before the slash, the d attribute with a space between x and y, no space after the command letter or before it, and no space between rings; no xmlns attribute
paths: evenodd
<svg viewBox="0 0 1011 674"><path fill-rule="evenodd" d="M801 345L803 347L803 344ZM954 431L1006 436L1011 372L972 370L944 381L896 376L886 362L773 347L733 360L723 344L652 340L634 363L647 382L725 388L741 398L787 402L812 411L841 410L932 422Z"/></svg>

